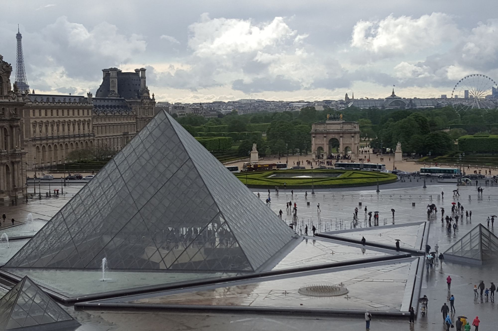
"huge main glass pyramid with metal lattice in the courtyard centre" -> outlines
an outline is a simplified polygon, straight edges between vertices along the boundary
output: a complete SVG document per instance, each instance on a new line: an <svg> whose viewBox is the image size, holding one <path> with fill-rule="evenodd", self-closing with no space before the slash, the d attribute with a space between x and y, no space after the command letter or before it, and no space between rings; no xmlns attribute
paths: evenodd
<svg viewBox="0 0 498 331"><path fill-rule="evenodd" d="M161 110L4 267L255 271L293 236Z"/></svg>

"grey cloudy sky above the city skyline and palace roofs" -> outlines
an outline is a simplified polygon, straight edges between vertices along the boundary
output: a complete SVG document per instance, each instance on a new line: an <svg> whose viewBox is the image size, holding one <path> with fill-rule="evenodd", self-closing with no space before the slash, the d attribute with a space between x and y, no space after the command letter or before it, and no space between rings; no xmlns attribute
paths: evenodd
<svg viewBox="0 0 498 331"><path fill-rule="evenodd" d="M19 23L36 92L95 93L102 69L145 67L157 101L372 98L393 84L403 97L434 97L465 75L498 80L498 4L478 4L4 1L0 54L15 66Z"/></svg>

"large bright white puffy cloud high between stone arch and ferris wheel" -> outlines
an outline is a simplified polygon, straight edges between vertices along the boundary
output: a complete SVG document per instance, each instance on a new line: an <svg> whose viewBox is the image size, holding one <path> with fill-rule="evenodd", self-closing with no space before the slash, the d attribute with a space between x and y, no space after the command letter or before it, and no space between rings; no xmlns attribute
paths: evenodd
<svg viewBox="0 0 498 331"><path fill-rule="evenodd" d="M427 49L459 36L453 18L433 12L419 18L394 17L377 21L359 21L353 27L351 46L382 56L409 54Z"/></svg>

